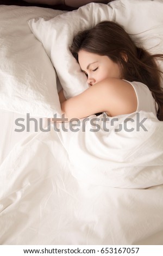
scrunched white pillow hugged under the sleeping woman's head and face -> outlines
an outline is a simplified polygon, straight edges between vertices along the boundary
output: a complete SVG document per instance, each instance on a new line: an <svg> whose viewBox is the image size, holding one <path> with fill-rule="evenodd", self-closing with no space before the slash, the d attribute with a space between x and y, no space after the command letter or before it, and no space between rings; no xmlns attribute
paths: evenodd
<svg viewBox="0 0 163 256"><path fill-rule="evenodd" d="M109 5L90 3L51 20L40 18L28 21L30 29L51 58L67 99L88 88L86 76L68 47L78 31L91 28L106 18L112 18Z"/></svg>

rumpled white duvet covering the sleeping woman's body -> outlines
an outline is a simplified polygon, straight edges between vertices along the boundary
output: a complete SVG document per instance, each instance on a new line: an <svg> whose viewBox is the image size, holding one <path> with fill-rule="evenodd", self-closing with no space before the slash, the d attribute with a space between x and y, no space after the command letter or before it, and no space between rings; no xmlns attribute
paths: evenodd
<svg viewBox="0 0 163 256"><path fill-rule="evenodd" d="M51 124L2 163L1 244L163 244L163 123L146 112L114 126L95 118L76 132Z"/></svg>

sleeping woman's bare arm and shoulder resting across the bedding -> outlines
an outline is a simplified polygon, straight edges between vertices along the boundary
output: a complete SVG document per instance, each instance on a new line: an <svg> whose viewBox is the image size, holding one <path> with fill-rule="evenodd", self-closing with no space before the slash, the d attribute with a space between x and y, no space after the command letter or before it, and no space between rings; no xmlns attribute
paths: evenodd
<svg viewBox="0 0 163 256"><path fill-rule="evenodd" d="M137 97L130 83L110 78L94 84L83 93L61 102L65 118L85 118L106 112L110 117L136 111Z"/></svg>

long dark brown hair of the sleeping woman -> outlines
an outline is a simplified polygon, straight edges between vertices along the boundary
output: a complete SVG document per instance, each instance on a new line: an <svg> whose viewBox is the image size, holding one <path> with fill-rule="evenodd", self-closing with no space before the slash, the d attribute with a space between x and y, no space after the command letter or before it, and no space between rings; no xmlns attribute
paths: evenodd
<svg viewBox="0 0 163 256"><path fill-rule="evenodd" d="M100 22L95 27L74 36L70 51L77 61L80 50L108 56L115 63L121 64L125 80L146 84L155 102L158 103L157 117L163 120L162 72L156 62L156 58L163 59L163 54L150 54L145 49L137 47L127 32L112 21ZM127 61L124 60L124 54Z"/></svg>

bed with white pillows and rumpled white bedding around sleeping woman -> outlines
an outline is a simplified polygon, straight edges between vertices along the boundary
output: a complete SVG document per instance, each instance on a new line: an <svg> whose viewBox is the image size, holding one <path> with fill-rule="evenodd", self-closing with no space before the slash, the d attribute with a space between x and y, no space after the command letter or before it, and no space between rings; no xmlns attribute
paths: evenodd
<svg viewBox="0 0 163 256"><path fill-rule="evenodd" d="M113 20L160 53L162 11L161 0L0 5L1 245L163 245L162 122L139 112L127 129L123 116L106 120L108 132L103 114L48 123L61 87L67 99L87 88L68 51L75 33Z"/></svg>

